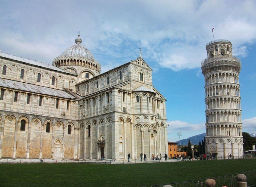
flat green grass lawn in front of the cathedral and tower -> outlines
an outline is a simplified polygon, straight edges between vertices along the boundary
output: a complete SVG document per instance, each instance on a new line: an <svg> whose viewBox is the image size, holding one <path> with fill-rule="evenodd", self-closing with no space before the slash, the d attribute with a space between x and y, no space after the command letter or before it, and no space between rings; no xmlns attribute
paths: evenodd
<svg viewBox="0 0 256 187"><path fill-rule="evenodd" d="M256 159L140 164L0 164L0 186L151 186L256 170Z"/></svg>

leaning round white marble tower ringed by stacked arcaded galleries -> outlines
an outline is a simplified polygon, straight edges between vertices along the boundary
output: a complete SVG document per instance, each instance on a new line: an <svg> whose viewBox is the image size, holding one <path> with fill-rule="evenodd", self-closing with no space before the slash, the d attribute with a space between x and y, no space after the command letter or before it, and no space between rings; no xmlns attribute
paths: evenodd
<svg viewBox="0 0 256 187"><path fill-rule="evenodd" d="M206 153L217 158L243 155L239 72L241 62L232 55L229 40L206 45L202 62L205 81Z"/></svg>

